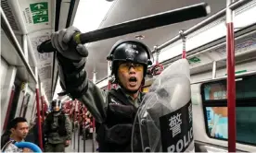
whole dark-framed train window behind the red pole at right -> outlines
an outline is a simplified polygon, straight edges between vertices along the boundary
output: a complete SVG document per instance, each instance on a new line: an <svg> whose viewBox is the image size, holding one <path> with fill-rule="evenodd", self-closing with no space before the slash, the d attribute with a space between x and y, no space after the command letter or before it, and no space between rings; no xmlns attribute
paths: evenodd
<svg viewBox="0 0 256 153"><path fill-rule="evenodd" d="M237 78L237 142L256 145L256 76ZM227 140L226 80L201 86L207 135Z"/></svg>

